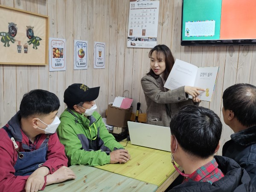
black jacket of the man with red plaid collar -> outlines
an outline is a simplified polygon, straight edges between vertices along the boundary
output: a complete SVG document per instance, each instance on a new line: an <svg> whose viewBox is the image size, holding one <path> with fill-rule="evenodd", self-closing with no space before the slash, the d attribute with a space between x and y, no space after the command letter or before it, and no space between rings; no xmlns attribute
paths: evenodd
<svg viewBox="0 0 256 192"><path fill-rule="evenodd" d="M212 185L208 182L188 181L175 186L169 192L256 192L247 172L234 160L222 156L214 158L224 177Z"/></svg>

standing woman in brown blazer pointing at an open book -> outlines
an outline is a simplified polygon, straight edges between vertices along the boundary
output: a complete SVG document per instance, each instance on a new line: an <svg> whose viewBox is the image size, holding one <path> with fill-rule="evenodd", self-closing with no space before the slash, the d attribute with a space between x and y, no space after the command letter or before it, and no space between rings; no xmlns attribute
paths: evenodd
<svg viewBox="0 0 256 192"><path fill-rule="evenodd" d="M147 123L169 127L174 116L184 105L198 105L198 87L182 86L175 90L163 87L168 78L174 57L166 45L157 45L150 50L150 71L141 79L147 103ZM189 99L191 95L193 99Z"/></svg>

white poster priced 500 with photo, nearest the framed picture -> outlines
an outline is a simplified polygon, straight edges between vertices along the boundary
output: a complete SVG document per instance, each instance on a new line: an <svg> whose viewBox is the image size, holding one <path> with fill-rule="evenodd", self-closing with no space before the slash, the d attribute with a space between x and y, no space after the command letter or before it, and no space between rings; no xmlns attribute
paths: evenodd
<svg viewBox="0 0 256 192"><path fill-rule="evenodd" d="M49 38L49 71L66 70L66 39Z"/></svg>

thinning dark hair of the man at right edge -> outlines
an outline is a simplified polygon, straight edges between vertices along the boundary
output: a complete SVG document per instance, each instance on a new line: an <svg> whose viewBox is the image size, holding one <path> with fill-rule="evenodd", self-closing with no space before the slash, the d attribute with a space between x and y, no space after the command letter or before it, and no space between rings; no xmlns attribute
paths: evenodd
<svg viewBox="0 0 256 192"><path fill-rule="evenodd" d="M239 83L228 87L222 96L225 110L232 110L244 126L256 125L256 87Z"/></svg>

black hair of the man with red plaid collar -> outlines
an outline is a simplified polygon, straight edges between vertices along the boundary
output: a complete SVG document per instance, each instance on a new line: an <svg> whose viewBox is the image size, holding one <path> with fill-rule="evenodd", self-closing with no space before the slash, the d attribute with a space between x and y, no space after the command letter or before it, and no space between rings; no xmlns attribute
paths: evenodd
<svg viewBox="0 0 256 192"><path fill-rule="evenodd" d="M173 116L170 128L186 153L206 159L215 153L221 139L222 123L212 110L186 105Z"/></svg>

